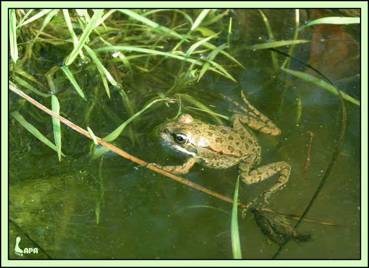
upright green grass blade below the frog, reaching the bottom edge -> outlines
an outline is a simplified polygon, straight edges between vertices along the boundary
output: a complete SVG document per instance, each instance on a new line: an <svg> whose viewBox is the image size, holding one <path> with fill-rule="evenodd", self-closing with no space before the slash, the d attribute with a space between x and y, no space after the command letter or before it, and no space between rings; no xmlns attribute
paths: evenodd
<svg viewBox="0 0 369 268"><path fill-rule="evenodd" d="M238 185L240 182L240 176L237 178L235 196L233 198L232 216L230 220L230 237L232 241L232 252L234 259L242 259L240 234L238 231L238 217L237 217L237 203L238 203Z"/></svg>

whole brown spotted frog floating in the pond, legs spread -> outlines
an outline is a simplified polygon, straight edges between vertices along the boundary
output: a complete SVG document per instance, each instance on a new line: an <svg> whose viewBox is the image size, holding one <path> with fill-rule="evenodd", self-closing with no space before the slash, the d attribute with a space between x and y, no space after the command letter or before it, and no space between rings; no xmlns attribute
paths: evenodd
<svg viewBox="0 0 369 268"><path fill-rule="evenodd" d="M213 169L239 165L239 175L245 184L257 183L279 173L278 181L259 196L263 196L268 203L267 198L288 182L291 166L284 161L259 166L261 147L244 125L272 136L279 135L281 130L251 105L243 91L241 95L247 108L223 96L241 110L241 113L232 110L232 127L208 124L189 114L182 114L176 120L162 125L158 130L160 140L171 149L186 154L188 158L179 166L150 165L176 175L187 174L195 163Z"/></svg>

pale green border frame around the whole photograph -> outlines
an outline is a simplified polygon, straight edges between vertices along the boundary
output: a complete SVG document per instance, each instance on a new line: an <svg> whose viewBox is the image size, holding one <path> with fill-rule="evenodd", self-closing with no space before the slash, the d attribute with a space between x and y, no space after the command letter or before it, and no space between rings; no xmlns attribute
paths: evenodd
<svg viewBox="0 0 369 268"><path fill-rule="evenodd" d="M84 2L85 3L85 2ZM138 4L140 3L140 4ZM352 2L211 2L216 8L361 8L361 260L8 260L8 8L81 8L79 2L2 1L2 266L367 266L367 163L368 163L368 4ZM89 2L89 8L206 8L209 2ZM5 40L8 40L6 42Z"/></svg>

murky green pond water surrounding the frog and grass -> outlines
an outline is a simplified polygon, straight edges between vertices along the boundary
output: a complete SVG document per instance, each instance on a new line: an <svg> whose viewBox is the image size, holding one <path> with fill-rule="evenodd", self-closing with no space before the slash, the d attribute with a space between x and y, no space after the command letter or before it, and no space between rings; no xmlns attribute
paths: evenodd
<svg viewBox="0 0 369 268"><path fill-rule="evenodd" d="M193 20L198 15L192 10L185 12ZM295 10L263 10L263 13L269 21L274 40L293 38ZM282 131L275 137L254 131L262 150L261 165L279 161L291 165L291 175L283 190L272 194L269 204L260 199L255 206L300 217L324 177L337 146L342 126L340 99L313 83L275 71L270 50L244 49L246 45L260 43L259 37L270 39L258 10L234 10L229 14L233 17L234 35L231 36L232 49L226 51L244 68L221 55L215 61L219 59L218 63L224 65L238 83L207 71L199 82L195 80L179 89L174 88L167 96L174 98L178 96L175 94L182 94L182 113L189 113L207 123L219 124L211 115L191 109L190 106L196 107L194 99L215 113L231 116L231 107L220 94L242 102L243 90L251 104ZM112 20L123 21L123 15L116 16ZM300 24L328 16L337 15L324 10L301 10ZM168 28L173 27L169 20L173 18L170 12L148 18ZM229 15L224 17L224 21L229 21ZM179 23L175 22L175 25ZM214 45L226 42L225 29L216 24L211 30L222 31L221 37L212 42ZM299 32L298 39L311 42L295 46L294 55L327 75L340 90L360 100L359 34L357 24L307 27ZM112 36L115 35L109 37ZM170 51L175 44L172 41L165 42L168 46L165 51ZM119 43L119 40L115 42ZM71 50L64 51L65 48L50 43L43 43L42 46L38 51L43 55L37 56L44 62L31 61L42 66L31 65L30 72L39 75L40 80L46 83L40 70L47 72ZM53 50L57 48L61 55L56 55L57 51ZM182 48L186 49L186 44ZM289 48L279 47L284 52L289 52ZM232 54L232 51L235 53ZM107 55L109 53L102 53L101 60ZM204 56L207 56L206 52ZM275 57L278 66L286 59L278 53ZM161 59L154 57L149 66L145 66L146 58L132 60L132 72L125 74L121 62L105 62L110 71L115 69L122 74L119 83L123 85L134 113L157 98L158 93L165 93L174 85L181 63L170 59L159 63ZM147 72L155 64L160 65L154 71ZM189 67L186 64L183 70ZM26 67L19 68L27 70ZM289 68L319 77L296 61L292 61ZM95 135L104 137L132 115L117 90L111 90L111 98L106 96L101 77L92 63L74 76L80 81L87 101L75 93L68 81L60 82L65 86L58 94L62 116L84 129L89 126ZM49 99L30 95L51 106ZM43 135L53 140L49 116L31 104L21 102L20 97L12 92L9 100L11 112L19 111ZM302 222L298 228L302 233L311 234L312 240L302 244L290 241L278 258L360 258L360 106L347 100L345 103L347 126L341 149L327 183L306 216L308 221ZM178 109L178 102L168 103L168 106L163 102L154 104L131 122L112 143L149 163L183 164L186 156L162 146L156 135L157 126L174 118ZM230 126L226 120L221 120L221 123ZM62 157L61 162L53 150L34 138L12 117L9 128L10 258L20 258L14 250L16 237L21 238L21 248L39 248L38 254L24 254L22 258L233 257L229 214L232 204L138 166L112 152L92 160L89 157L91 141L63 125L62 151L66 156ZM314 136L305 178L306 152L310 143L307 131L314 133ZM237 175L237 166L215 170L195 164L182 177L233 199ZM273 176L252 185L240 183L239 200L248 203L276 180L277 176ZM251 212L247 212L243 219L241 211L239 209L238 223L243 258L272 258L279 246L267 242ZM290 221L292 224L297 222Z"/></svg>

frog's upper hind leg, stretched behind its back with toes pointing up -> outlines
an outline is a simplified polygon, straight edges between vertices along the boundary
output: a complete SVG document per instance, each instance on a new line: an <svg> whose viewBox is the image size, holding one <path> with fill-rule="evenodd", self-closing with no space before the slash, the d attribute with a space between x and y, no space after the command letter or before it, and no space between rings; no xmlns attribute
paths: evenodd
<svg viewBox="0 0 369 268"><path fill-rule="evenodd" d="M251 105L251 103L246 99L243 90L241 91L241 95L248 109L246 109L244 106L242 106L240 103L233 100L232 98L224 96L224 98L232 102L244 113L240 114L237 111L233 111L236 113L235 116L237 116L243 124L246 124L252 129L259 130L263 133L270 134L273 136L279 135L281 133L281 130L277 126L275 126L274 123L271 122L269 118L264 116L262 113L256 110L256 108L253 105Z"/></svg>

